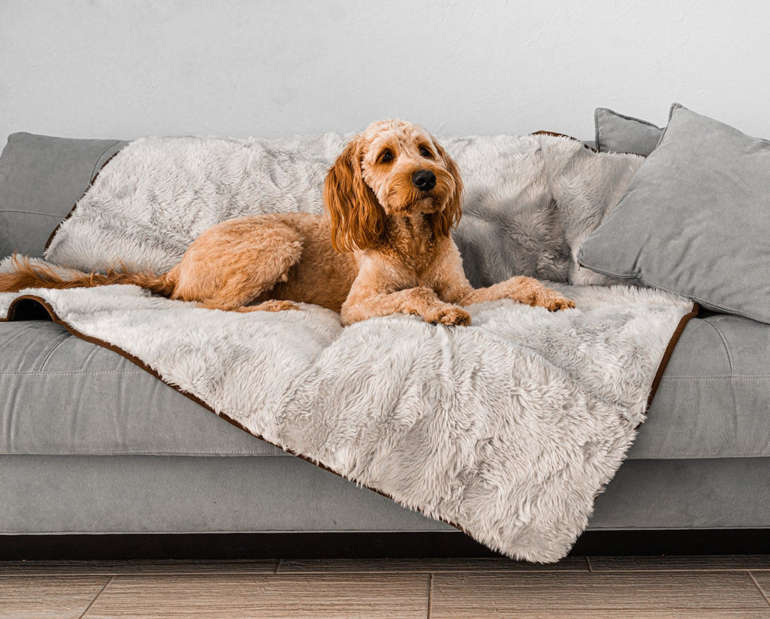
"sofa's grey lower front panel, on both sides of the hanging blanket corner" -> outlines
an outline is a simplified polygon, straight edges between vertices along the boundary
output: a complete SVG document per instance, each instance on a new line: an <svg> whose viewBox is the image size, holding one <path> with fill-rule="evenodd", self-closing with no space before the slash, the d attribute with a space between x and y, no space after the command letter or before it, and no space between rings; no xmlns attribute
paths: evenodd
<svg viewBox="0 0 770 619"><path fill-rule="evenodd" d="M298 458L2 455L0 496L0 534L454 531ZM765 458L628 460L588 530L770 527L768 504Z"/></svg>

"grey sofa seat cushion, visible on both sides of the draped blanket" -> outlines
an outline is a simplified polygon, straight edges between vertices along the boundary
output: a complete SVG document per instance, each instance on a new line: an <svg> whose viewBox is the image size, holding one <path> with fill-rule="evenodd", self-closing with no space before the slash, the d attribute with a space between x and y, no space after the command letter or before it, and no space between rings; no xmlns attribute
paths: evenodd
<svg viewBox="0 0 770 619"><path fill-rule="evenodd" d="M292 458L59 324L0 322L0 350L0 454ZM691 319L628 458L770 458L768 368L767 324Z"/></svg>

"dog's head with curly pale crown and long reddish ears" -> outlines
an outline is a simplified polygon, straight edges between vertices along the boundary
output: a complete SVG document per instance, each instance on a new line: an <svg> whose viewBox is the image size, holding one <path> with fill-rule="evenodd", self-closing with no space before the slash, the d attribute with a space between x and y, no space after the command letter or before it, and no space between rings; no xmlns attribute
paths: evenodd
<svg viewBox="0 0 770 619"><path fill-rule="evenodd" d="M345 148L326 175L323 203L337 251L374 248L388 217L424 214L434 235L460 221L463 183L457 164L410 122L375 122Z"/></svg>

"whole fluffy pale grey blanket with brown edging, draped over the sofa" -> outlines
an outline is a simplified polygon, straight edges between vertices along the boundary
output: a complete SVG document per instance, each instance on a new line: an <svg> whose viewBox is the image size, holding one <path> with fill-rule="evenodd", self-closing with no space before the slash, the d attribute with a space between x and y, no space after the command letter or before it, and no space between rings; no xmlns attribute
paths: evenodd
<svg viewBox="0 0 770 619"><path fill-rule="evenodd" d="M102 171L47 258L83 269L119 258L162 271L222 218L317 211L323 172L344 141L134 142ZM477 284L511 271L594 277L572 256L636 158L542 136L444 144L468 188L458 244ZM2 294L0 317L19 296L39 298L76 334L125 351L252 434L511 557L556 561L623 461L692 304L641 288L554 287L577 308L494 301L472 306L467 328L405 315L343 328L338 314L312 305L238 314L133 286Z"/></svg>

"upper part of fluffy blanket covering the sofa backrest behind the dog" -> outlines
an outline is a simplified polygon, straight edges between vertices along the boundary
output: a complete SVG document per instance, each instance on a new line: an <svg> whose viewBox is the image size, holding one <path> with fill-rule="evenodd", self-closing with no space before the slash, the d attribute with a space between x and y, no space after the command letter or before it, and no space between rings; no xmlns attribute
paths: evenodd
<svg viewBox="0 0 770 619"><path fill-rule="evenodd" d="M168 271L201 232L263 212L321 213L326 171L350 136L143 138L119 151L54 235L45 258L84 271L122 261ZM638 155L552 135L440 138L465 185L454 241L475 287L513 275L613 282L578 269L585 238L618 203ZM618 283L614 280L614 283Z"/></svg>

